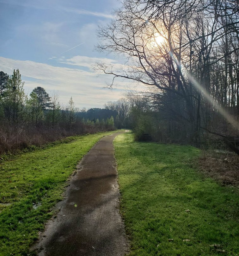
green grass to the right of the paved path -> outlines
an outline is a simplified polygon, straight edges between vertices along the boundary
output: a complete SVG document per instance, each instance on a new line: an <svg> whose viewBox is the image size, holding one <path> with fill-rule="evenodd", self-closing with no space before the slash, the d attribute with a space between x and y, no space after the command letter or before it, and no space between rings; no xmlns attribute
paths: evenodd
<svg viewBox="0 0 239 256"><path fill-rule="evenodd" d="M131 133L114 147L129 255L238 255L238 191L193 167L199 149L133 142Z"/></svg>

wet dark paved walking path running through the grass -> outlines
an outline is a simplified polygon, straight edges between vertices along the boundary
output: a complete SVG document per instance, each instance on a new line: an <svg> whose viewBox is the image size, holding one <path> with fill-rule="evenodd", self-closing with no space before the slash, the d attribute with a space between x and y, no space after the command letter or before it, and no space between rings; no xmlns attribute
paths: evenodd
<svg viewBox="0 0 239 256"><path fill-rule="evenodd" d="M123 256L128 251L119 214L113 139L103 137L79 163L65 200L34 248L42 255Z"/></svg>

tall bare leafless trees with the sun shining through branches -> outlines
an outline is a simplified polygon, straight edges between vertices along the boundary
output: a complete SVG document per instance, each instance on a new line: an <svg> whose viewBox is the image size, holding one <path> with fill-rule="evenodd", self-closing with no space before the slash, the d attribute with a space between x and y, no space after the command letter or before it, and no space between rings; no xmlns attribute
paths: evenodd
<svg viewBox="0 0 239 256"><path fill-rule="evenodd" d="M145 86L128 96L145 98L135 115L148 118L159 138L200 145L218 135L235 149L238 10L238 1L228 0L125 0L112 22L99 29L98 50L121 54L126 64L95 68L113 81L120 77Z"/></svg>

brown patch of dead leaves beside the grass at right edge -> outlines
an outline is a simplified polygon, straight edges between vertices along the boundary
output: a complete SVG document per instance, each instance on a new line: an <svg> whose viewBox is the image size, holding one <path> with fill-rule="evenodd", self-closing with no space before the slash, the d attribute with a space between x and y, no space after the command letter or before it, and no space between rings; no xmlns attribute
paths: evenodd
<svg viewBox="0 0 239 256"><path fill-rule="evenodd" d="M239 156L225 150L204 152L199 169L223 185L239 187Z"/></svg>

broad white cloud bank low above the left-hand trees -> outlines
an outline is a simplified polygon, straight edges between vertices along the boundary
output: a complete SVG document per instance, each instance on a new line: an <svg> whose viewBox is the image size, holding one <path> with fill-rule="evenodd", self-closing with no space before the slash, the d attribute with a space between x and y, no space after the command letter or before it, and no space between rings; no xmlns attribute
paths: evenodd
<svg viewBox="0 0 239 256"><path fill-rule="evenodd" d="M81 61L85 61L84 66L93 61L83 56ZM109 60L111 62L112 60ZM45 63L34 61L19 61L0 57L0 70L12 74L13 69L19 69L22 80L25 81L25 88L28 92L36 86L41 86L48 93L53 89L59 92L61 103L66 104L70 97L77 107L102 107L109 100L117 100L121 96L121 90L126 83L119 81L117 90L110 91L102 89L106 86L106 81L111 82L110 76L100 75L93 72L83 71L76 68L53 67Z"/></svg>

